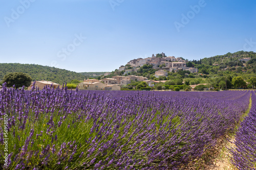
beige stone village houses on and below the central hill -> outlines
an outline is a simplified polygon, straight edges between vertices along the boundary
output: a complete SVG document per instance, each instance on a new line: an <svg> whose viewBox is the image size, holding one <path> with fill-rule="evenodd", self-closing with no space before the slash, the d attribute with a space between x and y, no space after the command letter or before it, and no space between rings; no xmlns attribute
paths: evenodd
<svg viewBox="0 0 256 170"><path fill-rule="evenodd" d="M121 87L125 87L134 82L145 82L143 87L154 87L155 84L159 82L164 83L165 81L149 80L149 78L143 76L131 75L132 72L138 72L141 68L152 68L155 70L154 78L167 77L168 72L177 72L179 70L190 71L191 73L198 72L197 68L187 67L187 60L181 57L168 56L166 57L164 53L153 54L152 57L148 58L138 58L127 62L127 64L121 65L119 67L120 76L112 76L111 73L106 72L104 78L98 79L84 79L82 82L78 83L78 89L80 90L120 90ZM34 83L34 82L32 82ZM35 81L35 85L38 88L43 88L45 85L53 84L54 88L57 88L58 84L49 81ZM136 86L138 83L136 84ZM142 88L143 88L142 87ZM32 84L28 89L32 88Z"/></svg>

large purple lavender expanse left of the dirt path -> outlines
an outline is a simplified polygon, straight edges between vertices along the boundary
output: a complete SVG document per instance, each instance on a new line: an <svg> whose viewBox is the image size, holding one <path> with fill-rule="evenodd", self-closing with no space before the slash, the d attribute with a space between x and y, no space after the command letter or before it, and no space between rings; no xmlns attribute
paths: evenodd
<svg viewBox="0 0 256 170"><path fill-rule="evenodd" d="M116 98L102 92L50 87L25 92L4 86L0 154L4 160L8 138L8 163L1 161L1 166L178 169L234 130L250 96L248 91L231 91L172 97L177 94L130 92Z"/></svg>

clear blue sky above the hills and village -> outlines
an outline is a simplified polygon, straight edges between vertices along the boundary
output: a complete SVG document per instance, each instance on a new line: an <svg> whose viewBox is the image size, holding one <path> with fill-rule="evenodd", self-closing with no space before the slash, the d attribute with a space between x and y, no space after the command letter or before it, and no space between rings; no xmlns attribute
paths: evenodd
<svg viewBox="0 0 256 170"><path fill-rule="evenodd" d="M162 52L255 52L255 33L255 0L0 0L1 63L112 71Z"/></svg>

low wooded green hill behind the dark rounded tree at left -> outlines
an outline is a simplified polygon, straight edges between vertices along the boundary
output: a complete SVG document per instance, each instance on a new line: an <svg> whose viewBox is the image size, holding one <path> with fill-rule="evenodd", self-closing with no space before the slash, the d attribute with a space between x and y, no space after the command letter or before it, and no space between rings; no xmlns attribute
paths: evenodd
<svg viewBox="0 0 256 170"><path fill-rule="evenodd" d="M66 69L42 66L37 64L0 63L0 79L10 72L25 72L32 80L53 81L58 84L70 82L73 79L83 80L87 76Z"/></svg>

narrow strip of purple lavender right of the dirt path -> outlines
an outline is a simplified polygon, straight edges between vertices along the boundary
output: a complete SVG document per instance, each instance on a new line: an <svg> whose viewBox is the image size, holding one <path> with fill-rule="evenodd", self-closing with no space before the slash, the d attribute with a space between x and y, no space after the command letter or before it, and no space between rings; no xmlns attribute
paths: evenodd
<svg viewBox="0 0 256 170"><path fill-rule="evenodd" d="M238 169L256 169L256 94L251 93L251 109L235 136L232 163Z"/></svg>

